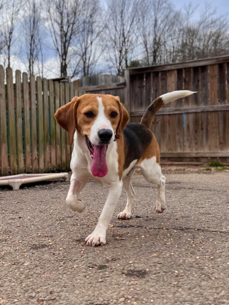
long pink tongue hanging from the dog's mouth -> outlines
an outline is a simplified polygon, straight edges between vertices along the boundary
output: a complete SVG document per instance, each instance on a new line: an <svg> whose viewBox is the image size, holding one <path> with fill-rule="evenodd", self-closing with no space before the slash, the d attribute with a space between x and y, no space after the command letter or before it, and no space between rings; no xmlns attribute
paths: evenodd
<svg viewBox="0 0 229 305"><path fill-rule="evenodd" d="M95 177L104 177L108 168L106 163L106 145L94 145L94 154L91 164L91 172Z"/></svg>

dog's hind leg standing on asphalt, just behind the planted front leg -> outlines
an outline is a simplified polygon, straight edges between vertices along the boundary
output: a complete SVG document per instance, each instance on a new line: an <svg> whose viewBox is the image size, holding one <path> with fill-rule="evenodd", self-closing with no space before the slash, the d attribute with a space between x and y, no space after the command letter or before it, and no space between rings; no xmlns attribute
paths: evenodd
<svg viewBox="0 0 229 305"><path fill-rule="evenodd" d="M135 197L135 192L133 189L133 185L131 183L131 177L133 175L135 168L129 171L129 173L122 179L123 188L127 193L127 203L125 209L118 214L119 219L130 219L131 218L131 210L133 206L133 201Z"/></svg>

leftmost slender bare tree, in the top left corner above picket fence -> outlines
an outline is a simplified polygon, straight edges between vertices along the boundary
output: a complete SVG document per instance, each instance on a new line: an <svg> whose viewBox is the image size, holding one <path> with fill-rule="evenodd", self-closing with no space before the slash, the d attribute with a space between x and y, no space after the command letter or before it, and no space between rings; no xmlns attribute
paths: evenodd
<svg viewBox="0 0 229 305"><path fill-rule="evenodd" d="M15 42L13 35L20 18L20 10L23 5L24 2L20 2L19 0L6 1L4 5L4 14L2 16L2 35L6 49L8 67L10 67L11 48Z"/></svg>

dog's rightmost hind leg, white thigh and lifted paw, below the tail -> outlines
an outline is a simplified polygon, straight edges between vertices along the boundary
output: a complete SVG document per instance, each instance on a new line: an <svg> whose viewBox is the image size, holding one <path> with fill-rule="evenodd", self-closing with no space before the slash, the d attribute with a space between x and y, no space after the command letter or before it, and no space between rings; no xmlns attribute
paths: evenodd
<svg viewBox="0 0 229 305"><path fill-rule="evenodd" d="M162 213L165 210L165 176L162 174L159 163L156 162L156 157L144 159L139 165L142 170L144 178L152 183L158 185L158 195L154 206L157 213Z"/></svg>

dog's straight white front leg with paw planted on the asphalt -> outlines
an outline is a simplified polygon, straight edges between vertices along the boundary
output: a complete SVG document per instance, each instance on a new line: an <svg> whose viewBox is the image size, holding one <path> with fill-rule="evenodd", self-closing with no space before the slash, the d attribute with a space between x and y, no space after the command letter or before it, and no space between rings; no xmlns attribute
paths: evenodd
<svg viewBox="0 0 229 305"><path fill-rule="evenodd" d="M122 181L113 182L106 185L107 200L98 219L94 231L85 239L88 246L103 246L106 243L106 231L114 213L115 206L122 191Z"/></svg>

